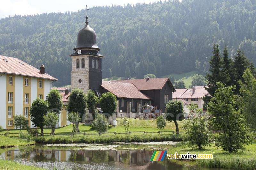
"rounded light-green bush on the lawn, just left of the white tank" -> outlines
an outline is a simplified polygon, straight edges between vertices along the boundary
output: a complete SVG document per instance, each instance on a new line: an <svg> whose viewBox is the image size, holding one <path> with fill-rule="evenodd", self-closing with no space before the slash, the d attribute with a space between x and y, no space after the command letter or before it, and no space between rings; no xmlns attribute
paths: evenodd
<svg viewBox="0 0 256 170"><path fill-rule="evenodd" d="M108 131L108 120L104 115L98 114L95 121L92 123L92 127L96 132L107 132Z"/></svg>

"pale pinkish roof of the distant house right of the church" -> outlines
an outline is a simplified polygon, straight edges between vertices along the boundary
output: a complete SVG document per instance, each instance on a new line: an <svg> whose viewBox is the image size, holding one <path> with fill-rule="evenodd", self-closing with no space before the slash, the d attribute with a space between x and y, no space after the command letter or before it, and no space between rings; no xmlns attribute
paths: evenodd
<svg viewBox="0 0 256 170"><path fill-rule="evenodd" d="M176 92L172 93L172 99L176 97L178 99L203 98L205 95L208 95L208 92L205 90L204 86L196 86L194 93L192 88L176 89Z"/></svg>

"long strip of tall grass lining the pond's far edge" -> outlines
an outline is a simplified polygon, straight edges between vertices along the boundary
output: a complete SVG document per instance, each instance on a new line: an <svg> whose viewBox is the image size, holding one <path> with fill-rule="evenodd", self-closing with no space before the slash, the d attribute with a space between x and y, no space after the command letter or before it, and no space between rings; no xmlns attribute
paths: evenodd
<svg viewBox="0 0 256 170"><path fill-rule="evenodd" d="M181 135L116 135L108 137L37 137L36 143L43 144L95 144L113 142L160 142L181 141Z"/></svg>

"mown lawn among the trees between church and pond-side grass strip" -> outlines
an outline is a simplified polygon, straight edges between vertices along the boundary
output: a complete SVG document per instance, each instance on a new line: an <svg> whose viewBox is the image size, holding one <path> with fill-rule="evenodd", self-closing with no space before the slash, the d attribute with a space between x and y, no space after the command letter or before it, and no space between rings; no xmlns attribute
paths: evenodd
<svg viewBox="0 0 256 170"><path fill-rule="evenodd" d="M108 129L108 132L117 132L117 133L124 133L124 126L121 125L121 119L117 118L117 127L113 127L111 129ZM159 131L156 128L156 121L154 120L140 120L140 119L134 119L134 118L129 118L129 120L132 123L132 126L129 128L129 131L146 131L146 132L157 132ZM179 129L180 131L183 130L183 124L184 121L178 122L179 123ZM84 124L80 124L79 125L79 130L82 133L96 133L95 130L91 129L90 125L84 125ZM175 129L175 124L174 122L166 122L166 127L164 128L164 130L162 131L176 131ZM26 132L26 130L21 130L22 132ZM40 131L40 129L39 129ZM6 131L2 132L5 133ZM57 128L55 129L55 134L70 134L72 132L72 125L68 125L62 128ZM9 133L19 133L18 129L13 129L10 130ZM44 128L44 133L51 133L51 129L50 128ZM170 133L170 132L169 132ZM138 134L138 133L136 133ZM12 135L12 134L10 134ZM15 134L13 134L12 136L15 136Z"/></svg>

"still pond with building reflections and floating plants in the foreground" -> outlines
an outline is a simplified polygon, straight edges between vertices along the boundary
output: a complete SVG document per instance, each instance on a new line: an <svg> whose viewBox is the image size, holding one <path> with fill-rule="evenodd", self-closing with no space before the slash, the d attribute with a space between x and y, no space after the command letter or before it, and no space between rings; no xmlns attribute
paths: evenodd
<svg viewBox="0 0 256 170"><path fill-rule="evenodd" d="M10 148L0 154L2 159L46 169L199 169L195 163L150 161L154 151L170 151L176 143L113 143L103 144L52 144ZM200 168L201 169L201 168ZM205 168L204 168L205 169Z"/></svg>

